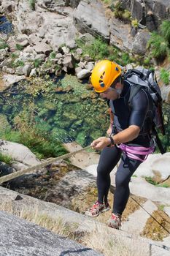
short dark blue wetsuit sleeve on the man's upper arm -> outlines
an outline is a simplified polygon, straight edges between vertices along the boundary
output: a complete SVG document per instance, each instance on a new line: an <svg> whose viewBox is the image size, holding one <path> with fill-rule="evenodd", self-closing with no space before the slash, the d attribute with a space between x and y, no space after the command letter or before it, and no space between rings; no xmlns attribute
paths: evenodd
<svg viewBox="0 0 170 256"><path fill-rule="evenodd" d="M149 99L147 93L143 89L140 89L131 100L131 116L129 118L129 126L136 125L142 129L148 110Z"/></svg>

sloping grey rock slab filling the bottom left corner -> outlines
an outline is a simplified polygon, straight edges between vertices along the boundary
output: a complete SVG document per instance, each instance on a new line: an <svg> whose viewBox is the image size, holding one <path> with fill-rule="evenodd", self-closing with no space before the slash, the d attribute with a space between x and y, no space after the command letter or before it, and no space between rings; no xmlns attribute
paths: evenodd
<svg viewBox="0 0 170 256"><path fill-rule="evenodd" d="M93 249L85 248L75 241L58 236L44 227L39 227L4 211L0 211L0 225L1 256L17 256L18 254L59 256L72 254L72 252L75 256L101 255Z"/></svg>

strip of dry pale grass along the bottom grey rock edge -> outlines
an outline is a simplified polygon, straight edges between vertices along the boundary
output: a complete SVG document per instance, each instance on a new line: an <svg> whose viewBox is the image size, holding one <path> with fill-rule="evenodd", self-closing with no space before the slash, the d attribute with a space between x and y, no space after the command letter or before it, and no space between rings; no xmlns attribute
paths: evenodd
<svg viewBox="0 0 170 256"><path fill-rule="evenodd" d="M113 230L104 227L100 222L98 222L92 232L80 233L78 232L77 223L65 222L61 216L56 216L53 219L47 214L40 213L39 206L36 206L34 210L33 208L23 208L20 211L12 205L12 202L7 202L1 204L0 210L7 211L36 225L45 227L47 230L51 230L59 236L78 241L84 246L103 253L105 256L145 256L148 253L146 252L146 246L142 246L141 242L138 241L136 243L134 239L124 238L122 236L117 237Z"/></svg>

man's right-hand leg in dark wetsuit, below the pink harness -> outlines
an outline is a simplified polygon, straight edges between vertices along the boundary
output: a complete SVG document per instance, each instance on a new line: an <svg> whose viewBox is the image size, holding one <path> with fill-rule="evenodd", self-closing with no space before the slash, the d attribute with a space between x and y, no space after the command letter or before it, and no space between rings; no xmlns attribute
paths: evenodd
<svg viewBox="0 0 170 256"><path fill-rule="evenodd" d="M112 211L114 214L121 215L123 213L130 194L128 184L131 180L131 176L141 163L142 162L130 159L123 154L116 173L116 189Z"/></svg>

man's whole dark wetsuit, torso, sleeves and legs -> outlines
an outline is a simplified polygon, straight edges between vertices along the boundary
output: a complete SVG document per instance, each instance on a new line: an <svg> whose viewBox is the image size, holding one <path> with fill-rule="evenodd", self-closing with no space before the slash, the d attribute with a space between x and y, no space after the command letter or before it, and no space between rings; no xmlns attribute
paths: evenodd
<svg viewBox="0 0 170 256"><path fill-rule="evenodd" d="M119 99L110 100L110 107L114 113L114 132L120 132L130 125L140 127L139 136L129 141L129 146L150 146L150 130L152 129L152 98L144 89L140 89L131 100L129 105L131 86L124 81L123 91ZM142 156L141 156L142 157ZM97 168L98 202L107 202L107 195L110 187L109 173L117 165L114 194L113 212L122 214L129 197L129 181L137 167L141 164L139 160L130 159L117 146L106 147L101 151Z"/></svg>

